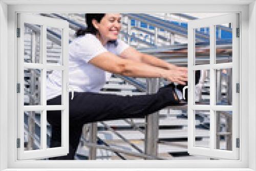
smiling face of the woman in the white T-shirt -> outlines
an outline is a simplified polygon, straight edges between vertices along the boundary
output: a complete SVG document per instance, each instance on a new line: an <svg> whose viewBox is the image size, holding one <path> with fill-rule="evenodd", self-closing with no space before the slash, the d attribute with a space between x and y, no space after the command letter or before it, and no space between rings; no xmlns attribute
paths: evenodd
<svg viewBox="0 0 256 171"><path fill-rule="evenodd" d="M99 31L100 37L106 41L116 40L121 30L120 14L105 14L100 23L93 20L94 27Z"/></svg>

